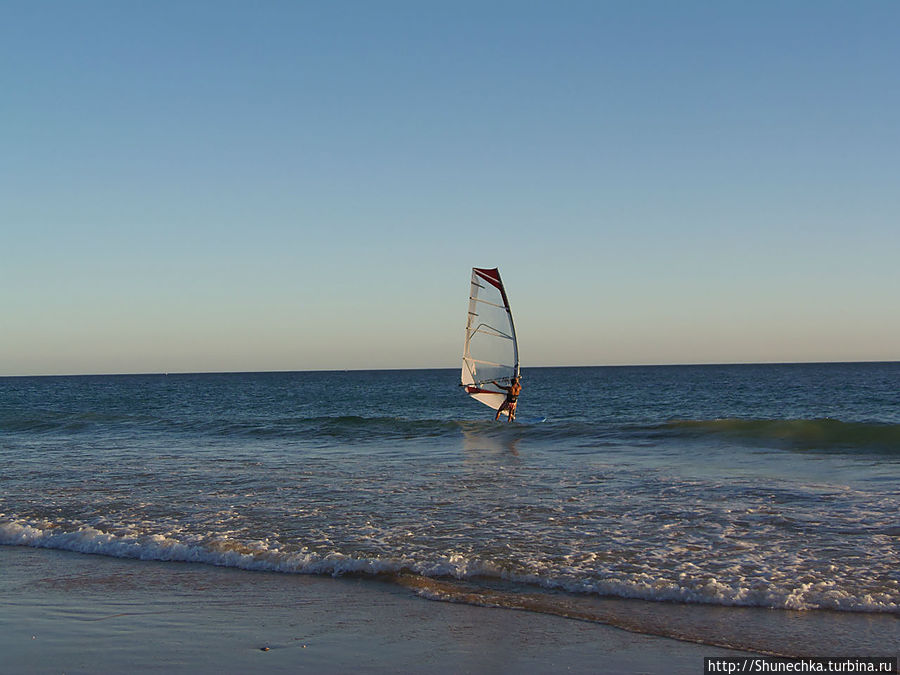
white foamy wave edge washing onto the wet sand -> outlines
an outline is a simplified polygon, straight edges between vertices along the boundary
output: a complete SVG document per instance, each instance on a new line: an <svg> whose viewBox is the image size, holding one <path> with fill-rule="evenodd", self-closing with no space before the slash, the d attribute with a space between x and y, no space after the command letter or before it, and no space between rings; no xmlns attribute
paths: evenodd
<svg viewBox="0 0 900 675"><path fill-rule="evenodd" d="M697 574L686 563L674 579L639 568L607 570L585 578L574 570L546 572L546 565L531 569L481 559L465 553L420 559L405 555L385 558L355 557L334 550L315 553L308 549L286 551L269 541L242 541L219 533L211 537L173 533L139 534L136 529L106 532L89 525L62 527L51 522L7 520L0 522L0 544L58 549L118 558L203 563L245 570L341 576L412 572L430 578L460 580L488 578L518 584L592 594L654 601L755 606L792 610L832 609L900 613L900 588L893 592L864 593L842 590L834 580L795 582L789 575L745 577L729 574L716 578ZM540 571L532 571L540 570ZM599 576L599 579L598 579ZM900 584L898 584L900 586Z"/></svg>

